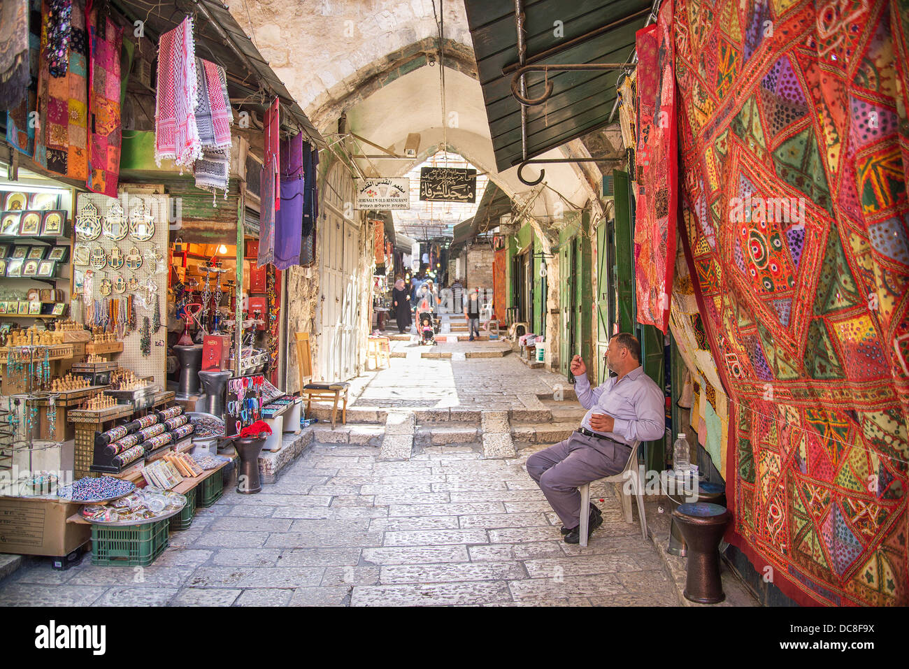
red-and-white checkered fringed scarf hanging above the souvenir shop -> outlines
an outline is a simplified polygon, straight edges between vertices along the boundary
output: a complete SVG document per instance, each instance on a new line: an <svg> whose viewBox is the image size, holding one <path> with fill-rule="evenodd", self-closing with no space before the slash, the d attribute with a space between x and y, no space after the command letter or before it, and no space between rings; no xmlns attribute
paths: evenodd
<svg viewBox="0 0 909 669"><path fill-rule="evenodd" d="M158 42L158 91L155 105L155 163L169 158L180 167L191 167L202 155L195 107L198 82L195 73L193 22L183 23L161 35Z"/></svg>

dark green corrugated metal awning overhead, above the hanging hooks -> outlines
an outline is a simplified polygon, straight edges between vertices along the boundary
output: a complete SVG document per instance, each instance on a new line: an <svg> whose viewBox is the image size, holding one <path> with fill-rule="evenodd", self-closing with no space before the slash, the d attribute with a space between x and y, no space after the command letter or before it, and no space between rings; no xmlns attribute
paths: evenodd
<svg viewBox="0 0 909 669"><path fill-rule="evenodd" d="M543 105L526 107L524 156L522 105L511 88L519 65L514 3L464 0L464 6L500 172L609 123L618 72L530 72L527 97L543 95L547 80L553 92ZM524 0L524 65L629 62L634 33L650 11L651 0Z"/></svg>

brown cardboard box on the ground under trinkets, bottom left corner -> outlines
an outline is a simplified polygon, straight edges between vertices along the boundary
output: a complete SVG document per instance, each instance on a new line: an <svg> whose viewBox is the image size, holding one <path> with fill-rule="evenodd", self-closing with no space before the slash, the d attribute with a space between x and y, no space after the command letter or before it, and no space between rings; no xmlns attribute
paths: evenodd
<svg viewBox="0 0 909 669"><path fill-rule="evenodd" d="M89 524L67 524L82 504L42 497L0 497L0 553L61 556L92 536Z"/></svg>

